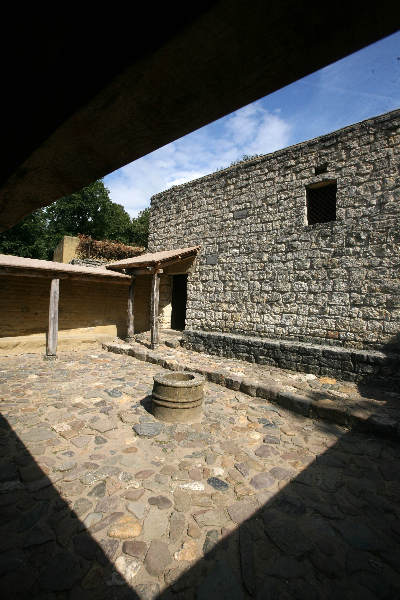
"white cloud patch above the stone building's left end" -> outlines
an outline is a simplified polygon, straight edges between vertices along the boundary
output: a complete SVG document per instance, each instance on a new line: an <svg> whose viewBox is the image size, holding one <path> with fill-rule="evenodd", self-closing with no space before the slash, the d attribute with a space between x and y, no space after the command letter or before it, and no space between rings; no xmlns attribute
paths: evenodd
<svg viewBox="0 0 400 600"><path fill-rule="evenodd" d="M277 112L255 102L122 167L105 178L111 199L135 216L157 192L287 146L290 125Z"/></svg>

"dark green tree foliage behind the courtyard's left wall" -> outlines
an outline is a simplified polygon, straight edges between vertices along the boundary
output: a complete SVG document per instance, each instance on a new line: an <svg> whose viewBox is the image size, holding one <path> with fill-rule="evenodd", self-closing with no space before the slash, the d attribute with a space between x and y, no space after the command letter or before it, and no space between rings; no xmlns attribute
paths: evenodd
<svg viewBox="0 0 400 600"><path fill-rule="evenodd" d="M0 234L0 253L51 260L64 235L114 240L147 246L149 209L131 219L123 206L112 202L103 181L41 208Z"/></svg>

